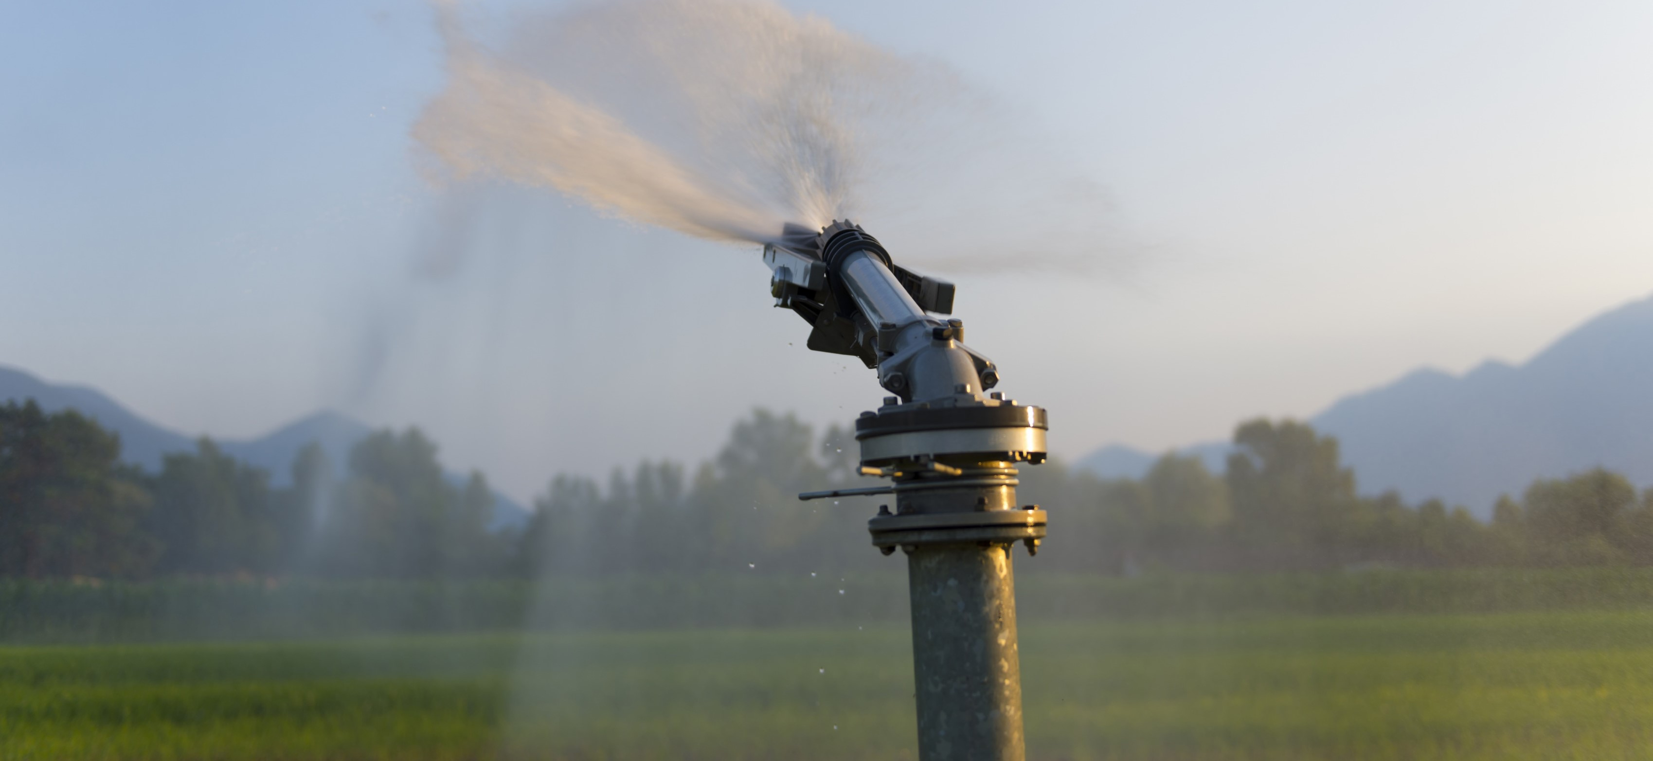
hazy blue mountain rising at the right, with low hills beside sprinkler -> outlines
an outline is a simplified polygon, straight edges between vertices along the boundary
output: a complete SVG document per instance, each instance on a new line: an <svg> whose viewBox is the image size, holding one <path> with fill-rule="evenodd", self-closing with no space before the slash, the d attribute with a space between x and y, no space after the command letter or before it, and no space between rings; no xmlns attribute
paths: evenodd
<svg viewBox="0 0 1653 761"><path fill-rule="evenodd" d="M1488 515L1499 494L1590 467L1653 484L1653 299L1602 314L1524 365L1415 370L1309 423L1336 436L1360 490L1440 497ZM1227 449L1210 442L1192 449ZM1103 447L1081 467L1139 475L1152 459ZM1122 464L1146 462L1137 472ZM1126 469L1127 470L1127 469Z"/></svg>

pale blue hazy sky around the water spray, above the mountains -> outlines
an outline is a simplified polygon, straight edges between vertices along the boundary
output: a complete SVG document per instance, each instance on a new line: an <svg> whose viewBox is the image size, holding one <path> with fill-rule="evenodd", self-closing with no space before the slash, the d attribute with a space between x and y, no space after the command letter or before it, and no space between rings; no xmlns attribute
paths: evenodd
<svg viewBox="0 0 1653 761"><path fill-rule="evenodd" d="M1653 292L1653 3L787 5L960 69L1106 188L1131 267L950 274L1063 456L1521 362ZM420 424L517 497L752 406L876 406L752 248L430 187L441 84L418 2L5 3L0 363L185 432Z"/></svg>

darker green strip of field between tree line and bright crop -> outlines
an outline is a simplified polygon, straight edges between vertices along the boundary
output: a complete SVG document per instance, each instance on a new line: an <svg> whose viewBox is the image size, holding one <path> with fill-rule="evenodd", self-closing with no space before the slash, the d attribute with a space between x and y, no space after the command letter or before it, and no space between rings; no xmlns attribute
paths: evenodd
<svg viewBox="0 0 1653 761"><path fill-rule="evenodd" d="M879 558L884 560L884 558ZM1035 566L1036 568L1036 566ZM1020 574L1022 571L1018 571ZM1025 573L1027 621L1653 609L1653 568L1359 573ZM486 631L817 629L907 621L907 578L881 573L542 581L0 578L0 644L337 639Z"/></svg>

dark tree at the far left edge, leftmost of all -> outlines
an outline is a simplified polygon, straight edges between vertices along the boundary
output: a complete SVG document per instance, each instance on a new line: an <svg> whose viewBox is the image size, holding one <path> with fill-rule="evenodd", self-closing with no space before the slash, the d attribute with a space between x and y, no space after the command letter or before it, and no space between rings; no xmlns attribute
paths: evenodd
<svg viewBox="0 0 1653 761"><path fill-rule="evenodd" d="M139 576L157 545L121 439L76 411L0 406L0 576Z"/></svg>

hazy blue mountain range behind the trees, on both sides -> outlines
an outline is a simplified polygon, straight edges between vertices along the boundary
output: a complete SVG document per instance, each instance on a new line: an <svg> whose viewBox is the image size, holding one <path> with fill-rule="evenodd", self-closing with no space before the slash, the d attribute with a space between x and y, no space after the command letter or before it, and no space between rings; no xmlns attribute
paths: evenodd
<svg viewBox="0 0 1653 761"><path fill-rule="evenodd" d="M167 452L195 441L150 423L101 391L41 381L0 366L0 401L36 399L45 409L79 409L121 434L122 457L157 470ZM1336 436L1360 492L1438 497L1476 515L1499 494L1517 495L1541 477L1607 467L1633 484L1653 484L1653 297L1597 315L1522 365L1486 362L1456 376L1415 370L1393 383L1344 396L1308 419ZM289 480L294 454L316 441L344 472L345 457L372 429L339 413L316 413L269 434L220 441L225 452ZM1223 441L1179 447L1223 470ZM1078 466L1103 477L1141 477L1155 454L1112 444ZM450 474L463 482L463 475ZM527 512L496 492L494 525L521 525Z"/></svg>

